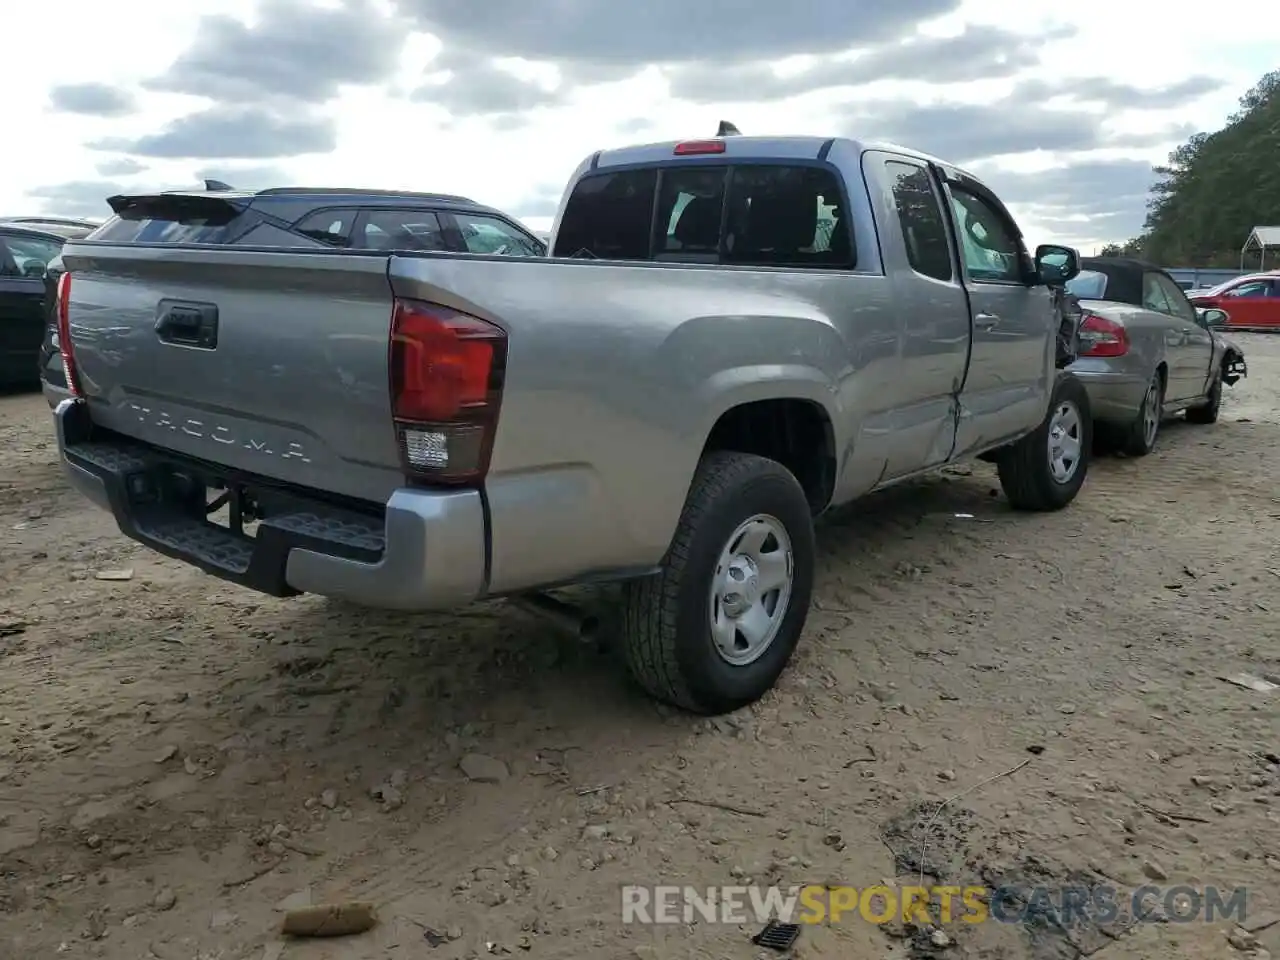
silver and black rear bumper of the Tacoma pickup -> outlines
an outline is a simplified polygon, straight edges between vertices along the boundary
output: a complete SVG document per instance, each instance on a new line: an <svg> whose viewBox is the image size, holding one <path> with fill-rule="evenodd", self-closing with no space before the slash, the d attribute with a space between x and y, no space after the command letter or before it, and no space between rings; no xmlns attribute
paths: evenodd
<svg viewBox="0 0 1280 960"><path fill-rule="evenodd" d="M479 490L402 488L381 516L298 493L276 504L253 536L205 517L172 494L174 458L120 438L93 436L82 401L54 411L72 485L157 553L270 594L314 593L365 607L435 611L476 599L486 585L486 527ZM179 465L182 468L182 465ZM192 471L207 468L192 462Z"/></svg>

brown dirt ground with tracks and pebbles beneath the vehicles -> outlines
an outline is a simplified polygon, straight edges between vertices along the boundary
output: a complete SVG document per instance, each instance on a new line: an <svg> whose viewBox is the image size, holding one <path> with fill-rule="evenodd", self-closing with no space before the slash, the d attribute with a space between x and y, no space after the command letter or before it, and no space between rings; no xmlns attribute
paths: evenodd
<svg viewBox="0 0 1280 960"><path fill-rule="evenodd" d="M922 869L1247 887L1266 927L1280 691L1221 677L1280 681L1280 338L1239 339L1216 426L1097 461L1062 513L979 465L827 520L795 664L710 722L498 603L273 600L159 558L69 490L44 399L0 398L0 957L754 960L754 925L623 925L621 884ZM349 899L374 929L280 938ZM1251 936L846 919L792 952L1280 957Z"/></svg>

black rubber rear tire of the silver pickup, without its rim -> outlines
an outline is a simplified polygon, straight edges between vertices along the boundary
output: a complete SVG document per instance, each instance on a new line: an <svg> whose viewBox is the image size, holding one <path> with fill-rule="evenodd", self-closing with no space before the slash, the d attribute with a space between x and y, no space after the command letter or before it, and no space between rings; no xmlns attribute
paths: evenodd
<svg viewBox="0 0 1280 960"><path fill-rule="evenodd" d="M712 585L737 527L776 518L791 540L791 596L758 659L724 659L712 637ZM782 465L746 453L703 458L662 571L623 588L622 649L631 675L652 696L703 714L760 699L795 650L813 593L814 532L809 502Z"/></svg>

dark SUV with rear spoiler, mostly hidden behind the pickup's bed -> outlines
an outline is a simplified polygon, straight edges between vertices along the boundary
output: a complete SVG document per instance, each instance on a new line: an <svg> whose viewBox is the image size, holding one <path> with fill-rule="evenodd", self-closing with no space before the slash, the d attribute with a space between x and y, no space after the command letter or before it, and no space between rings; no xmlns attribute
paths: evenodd
<svg viewBox="0 0 1280 960"><path fill-rule="evenodd" d="M274 187L110 197L114 216L90 239L125 243L211 243L338 250L443 250L545 256L547 244L500 210L449 193ZM46 324L40 371L50 406L68 397L52 302L61 260L45 274Z"/></svg>

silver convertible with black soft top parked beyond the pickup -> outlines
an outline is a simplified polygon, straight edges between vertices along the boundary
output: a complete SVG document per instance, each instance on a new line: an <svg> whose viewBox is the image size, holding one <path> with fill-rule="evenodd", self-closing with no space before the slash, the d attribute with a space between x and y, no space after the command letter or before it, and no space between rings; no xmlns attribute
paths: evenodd
<svg viewBox="0 0 1280 960"><path fill-rule="evenodd" d="M1165 417L1213 424L1222 388L1248 370L1239 343L1219 328L1222 310L1197 310L1158 266L1084 257L1066 284L1079 312L1079 357L1070 370L1089 392L1100 442L1132 457L1156 448Z"/></svg>

